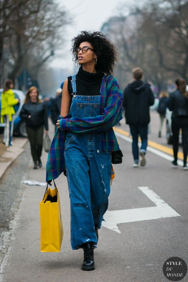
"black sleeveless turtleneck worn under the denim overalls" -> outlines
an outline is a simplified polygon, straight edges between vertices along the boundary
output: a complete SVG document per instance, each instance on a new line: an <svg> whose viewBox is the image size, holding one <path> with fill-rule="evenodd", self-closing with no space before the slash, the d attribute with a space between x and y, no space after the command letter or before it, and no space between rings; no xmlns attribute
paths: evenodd
<svg viewBox="0 0 188 282"><path fill-rule="evenodd" d="M76 74L76 95L81 96L96 96L100 95L101 83L104 74L101 70L98 70L96 73L91 73L79 68L78 73ZM68 77L68 91L71 95L73 92L71 85L72 76ZM73 95L71 95L71 98Z"/></svg>

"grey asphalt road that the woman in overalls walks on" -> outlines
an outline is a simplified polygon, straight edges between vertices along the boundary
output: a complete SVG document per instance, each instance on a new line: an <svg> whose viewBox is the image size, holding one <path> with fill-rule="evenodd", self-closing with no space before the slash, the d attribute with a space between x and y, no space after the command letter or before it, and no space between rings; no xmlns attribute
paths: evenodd
<svg viewBox="0 0 188 282"><path fill-rule="evenodd" d="M165 138L157 138L157 120L158 116L153 112L149 138L166 145ZM121 128L128 130L124 121ZM51 136L53 131L52 127ZM64 175L56 180L64 227L61 251L40 252L39 202L45 187L28 186L20 182L22 179L45 182L45 165L38 170L32 169L29 145L26 145L25 153L18 157L10 169L15 170L15 173L10 176L7 172L3 177L3 183L12 177L12 186L17 187L12 193L16 194L17 200L13 205L9 204L8 209L12 212L9 227L6 222L2 229L5 236L1 237L4 249L1 247L0 282L165 282L169 280L165 278L162 269L168 258L177 256L188 264L188 172L183 171L182 167L173 169L169 160L151 152L147 152L146 166L134 169L131 143L120 137L118 140L124 157L121 165L114 165L116 176L111 186L108 208L113 214L113 221L118 222L118 232L110 229L109 221L105 223L106 227L99 230L98 248L94 250L96 269L88 272L80 269L83 251L73 251L70 247L70 201ZM46 159L47 153L43 152L43 164ZM10 184L8 187L11 187ZM138 187L149 187L146 188L148 194L144 194ZM6 198L3 201L6 202ZM153 218L160 217L163 210L164 218L149 219L152 207L156 206L159 209L154 212ZM169 206L176 216L170 217ZM126 213L130 209L133 215L132 221L128 222L130 217L127 218ZM139 221L135 221L135 217ZM188 276L182 281L188 281Z"/></svg>

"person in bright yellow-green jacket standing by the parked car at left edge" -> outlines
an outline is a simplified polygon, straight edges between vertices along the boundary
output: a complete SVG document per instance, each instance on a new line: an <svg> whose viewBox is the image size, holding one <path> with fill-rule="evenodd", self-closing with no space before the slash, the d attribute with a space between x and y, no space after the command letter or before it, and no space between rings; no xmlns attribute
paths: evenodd
<svg viewBox="0 0 188 282"><path fill-rule="evenodd" d="M19 99L14 97L12 89L13 81L7 79L1 96L1 123L5 123L3 142L6 146L13 144L13 115L15 114L13 106L20 102Z"/></svg>

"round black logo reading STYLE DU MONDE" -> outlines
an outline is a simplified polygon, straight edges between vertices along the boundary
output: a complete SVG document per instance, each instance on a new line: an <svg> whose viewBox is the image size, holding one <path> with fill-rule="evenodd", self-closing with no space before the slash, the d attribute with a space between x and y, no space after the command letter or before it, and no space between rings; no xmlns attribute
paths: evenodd
<svg viewBox="0 0 188 282"><path fill-rule="evenodd" d="M163 264L163 273L170 281L180 281L187 274L187 265L183 259L172 257Z"/></svg>

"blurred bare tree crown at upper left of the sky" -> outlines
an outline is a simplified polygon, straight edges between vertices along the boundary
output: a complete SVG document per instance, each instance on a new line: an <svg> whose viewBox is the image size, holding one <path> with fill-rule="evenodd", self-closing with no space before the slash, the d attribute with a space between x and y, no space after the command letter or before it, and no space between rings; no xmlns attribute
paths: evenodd
<svg viewBox="0 0 188 282"><path fill-rule="evenodd" d="M32 66L36 76L39 67L54 55L58 33L69 19L54 0L14 0L13 4L2 37L4 53L8 53L8 77L14 81L26 65Z"/></svg>

